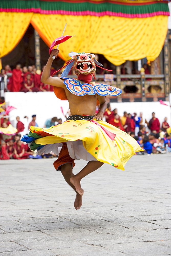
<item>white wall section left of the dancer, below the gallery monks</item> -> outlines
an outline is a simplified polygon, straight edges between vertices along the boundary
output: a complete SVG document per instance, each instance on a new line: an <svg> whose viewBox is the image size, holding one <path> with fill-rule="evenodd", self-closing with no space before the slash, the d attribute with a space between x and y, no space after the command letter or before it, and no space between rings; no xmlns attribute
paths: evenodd
<svg viewBox="0 0 171 256"><path fill-rule="evenodd" d="M43 127L46 119L57 116L65 121L65 117L61 112L61 106L64 114L67 113L69 105L67 100L59 100L54 92L5 92L5 101L9 101L9 106L17 109L12 110L10 121L16 127L16 116L23 121L24 116L28 116L31 121L31 116L36 114L36 122L39 127Z"/></svg>

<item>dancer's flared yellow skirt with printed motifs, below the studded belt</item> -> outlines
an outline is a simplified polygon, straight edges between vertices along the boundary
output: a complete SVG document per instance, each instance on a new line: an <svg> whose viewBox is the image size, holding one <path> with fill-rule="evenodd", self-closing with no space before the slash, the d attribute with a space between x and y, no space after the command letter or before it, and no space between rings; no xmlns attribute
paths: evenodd
<svg viewBox="0 0 171 256"><path fill-rule="evenodd" d="M34 143L38 145L37 149L41 148L40 154L45 152L44 150L47 147L50 149L51 146L53 151L55 146L53 144L56 143L79 141L80 144L80 141L82 141L83 148L94 159L121 170L124 170L126 162L135 152L143 151L134 138L126 132L96 119L92 121L68 120L49 129L31 126L30 131L39 135ZM45 146L42 147L41 145ZM72 155L70 156L72 157Z"/></svg>

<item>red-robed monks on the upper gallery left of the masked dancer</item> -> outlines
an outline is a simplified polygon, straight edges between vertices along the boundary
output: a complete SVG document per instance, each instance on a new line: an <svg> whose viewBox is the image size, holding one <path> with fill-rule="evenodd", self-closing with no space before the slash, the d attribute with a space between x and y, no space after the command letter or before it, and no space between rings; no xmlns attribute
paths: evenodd
<svg viewBox="0 0 171 256"><path fill-rule="evenodd" d="M45 66L42 67L42 71ZM4 96L3 91L10 92L39 92L39 91L53 91L53 86L42 83L41 73L35 68L35 65L21 68L20 64L16 65L16 68L11 70L9 65L6 65L4 69L1 69L0 74L0 88L1 97ZM50 75L56 70L52 67ZM60 72L59 72L60 75Z"/></svg>

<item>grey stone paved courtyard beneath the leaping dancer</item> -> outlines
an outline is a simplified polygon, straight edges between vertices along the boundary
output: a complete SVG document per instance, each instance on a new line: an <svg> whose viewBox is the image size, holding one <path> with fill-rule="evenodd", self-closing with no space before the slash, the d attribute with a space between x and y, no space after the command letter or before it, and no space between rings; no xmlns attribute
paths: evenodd
<svg viewBox="0 0 171 256"><path fill-rule="evenodd" d="M103 165L82 180L78 211L53 162L0 161L0 256L171 255L171 154Z"/></svg>

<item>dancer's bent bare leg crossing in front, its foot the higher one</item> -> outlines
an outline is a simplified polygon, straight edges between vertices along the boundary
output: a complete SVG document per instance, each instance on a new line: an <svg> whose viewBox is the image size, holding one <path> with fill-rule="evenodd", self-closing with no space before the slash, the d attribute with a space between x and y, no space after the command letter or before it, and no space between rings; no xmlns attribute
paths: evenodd
<svg viewBox="0 0 171 256"><path fill-rule="evenodd" d="M89 173L94 172L98 168L100 168L104 163L99 162L99 161L89 161L88 164L75 176L71 176L70 182L74 187L76 188L76 191L80 194L83 195L82 188L80 181L82 178L87 176Z"/></svg>

